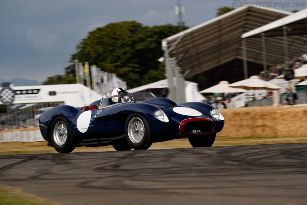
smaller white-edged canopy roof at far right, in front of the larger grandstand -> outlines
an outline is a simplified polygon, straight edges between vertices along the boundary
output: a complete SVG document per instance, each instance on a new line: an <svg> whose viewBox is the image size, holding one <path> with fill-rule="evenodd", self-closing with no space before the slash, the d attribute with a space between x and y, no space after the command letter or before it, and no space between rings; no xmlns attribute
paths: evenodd
<svg viewBox="0 0 307 205"><path fill-rule="evenodd" d="M261 33L266 34L266 36L282 36L283 30L282 26L286 25L287 35L301 35L306 34L307 24L307 9L301 10L297 13L291 14L277 21L271 22L254 30L251 30L245 34L241 35L241 38L247 37L261 37Z"/></svg>

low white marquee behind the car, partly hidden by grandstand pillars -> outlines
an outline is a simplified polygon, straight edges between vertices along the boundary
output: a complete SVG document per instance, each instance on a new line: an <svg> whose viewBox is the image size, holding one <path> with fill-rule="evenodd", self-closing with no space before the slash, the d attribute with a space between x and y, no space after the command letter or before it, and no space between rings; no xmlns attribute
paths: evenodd
<svg viewBox="0 0 307 205"><path fill-rule="evenodd" d="M186 102L201 102L206 99L202 94L198 93L197 86L198 86L197 83L185 81L185 101ZM127 91L130 93L136 93L136 92L141 92L143 90L155 89L155 88L168 88L167 79L157 81L154 83L150 83L147 85L142 85L137 88L132 88Z"/></svg>

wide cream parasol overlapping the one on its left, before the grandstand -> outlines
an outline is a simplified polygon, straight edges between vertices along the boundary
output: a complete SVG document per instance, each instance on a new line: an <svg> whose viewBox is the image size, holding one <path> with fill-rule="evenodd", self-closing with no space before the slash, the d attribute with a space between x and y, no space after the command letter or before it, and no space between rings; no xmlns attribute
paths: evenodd
<svg viewBox="0 0 307 205"><path fill-rule="evenodd" d="M281 89L278 85L261 80L258 76L251 76L248 79L238 81L229 85L231 88L243 88L250 90L278 90Z"/></svg>

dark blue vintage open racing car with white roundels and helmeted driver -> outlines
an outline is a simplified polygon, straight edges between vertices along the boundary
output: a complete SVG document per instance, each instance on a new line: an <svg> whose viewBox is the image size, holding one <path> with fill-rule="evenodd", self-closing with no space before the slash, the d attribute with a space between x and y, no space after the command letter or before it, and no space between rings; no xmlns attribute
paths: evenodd
<svg viewBox="0 0 307 205"><path fill-rule="evenodd" d="M39 118L41 134L57 152L80 146L148 149L153 142L188 138L192 147L212 146L223 115L201 102L176 104L153 93L117 88L86 107L62 105Z"/></svg>

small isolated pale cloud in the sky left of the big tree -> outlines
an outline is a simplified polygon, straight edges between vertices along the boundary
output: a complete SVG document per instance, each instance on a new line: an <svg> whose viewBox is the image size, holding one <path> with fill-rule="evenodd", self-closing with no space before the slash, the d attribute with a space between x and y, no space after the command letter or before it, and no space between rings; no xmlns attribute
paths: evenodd
<svg viewBox="0 0 307 205"><path fill-rule="evenodd" d="M58 40L58 35L52 33L44 33L37 30L29 30L26 39L37 50L56 51L62 46L62 42Z"/></svg>

